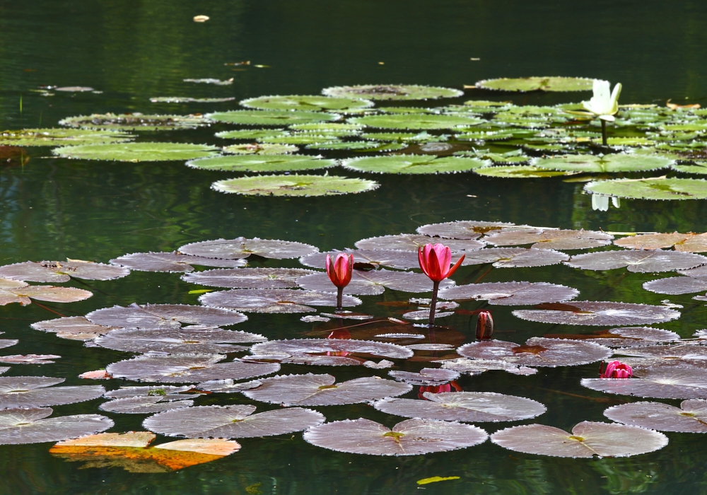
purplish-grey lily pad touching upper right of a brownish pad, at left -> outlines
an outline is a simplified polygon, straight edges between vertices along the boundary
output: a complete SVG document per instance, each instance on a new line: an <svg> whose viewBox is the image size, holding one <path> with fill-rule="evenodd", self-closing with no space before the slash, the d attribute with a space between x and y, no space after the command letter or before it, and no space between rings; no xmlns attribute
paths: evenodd
<svg viewBox="0 0 707 495"><path fill-rule="evenodd" d="M123 328L180 328L189 325L235 325L244 322L247 316L223 308L204 308L188 304L131 304L123 307L95 310L86 318L98 325Z"/></svg>

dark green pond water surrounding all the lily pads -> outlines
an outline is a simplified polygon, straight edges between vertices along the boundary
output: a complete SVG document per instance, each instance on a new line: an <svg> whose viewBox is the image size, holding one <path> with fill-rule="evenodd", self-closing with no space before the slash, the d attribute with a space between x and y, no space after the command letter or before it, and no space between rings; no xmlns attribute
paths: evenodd
<svg viewBox="0 0 707 495"><path fill-rule="evenodd" d="M194 16L210 17L195 23ZM461 89L496 77L561 75L623 83L621 103L707 104L706 4L697 1L651 6L626 1L538 4L503 1L189 1L71 2L0 0L0 124L3 129L59 127L74 115L105 112L189 113L238 109L238 101L261 95L317 95L322 88L352 84L404 83ZM478 59L478 60L475 60ZM228 65L250 61L250 65ZM185 78L233 78L228 86L184 82ZM42 86L88 86L97 92L37 91ZM151 103L149 98L230 98L223 103ZM590 93L489 93L467 89L462 97L411 102L411 106L461 105L466 100L510 100L515 105L578 103ZM400 103L398 103L400 105ZM407 103L405 103L407 105ZM215 132L237 129L212 124L200 129L138 132L136 141L172 141L226 146ZM488 147L488 146L486 146ZM500 149L500 148L499 148ZM592 209L585 182L563 177L504 179L467 172L449 175L374 175L337 167L329 175L361 177L377 190L325 197L255 197L211 190L215 180L238 174L187 168L184 161L113 162L52 156L49 147L27 147L23 158L0 165L0 262L109 260L132 252L172 251L218 238L282 239L321 251L353 248L377 235L414 233L426 223L503 221L554 228L619 232L707 231L707 204L693 201L622 199L619 209ZM308 152L313 154L312 152ZM327 158L355 156L322 151ZM18 160L24 161L21 164ZM315 174L319 171L313 172ZM653 174L660 175L658 173ZM641 177L638 173L636 177ZM633 175L631 175L633 177ZM566 179L566 177L564 177ZM573 254L577 251L571 252ZM300 267L294 260L250 260L251 267ZM544 281L580 291L580 301L684 305L679 320L658 325L691 337L706 311L694 294L665 296L641 288L653 273L580 271L550 267L493 269L462 267L457 284L479 280ZM199 268L201 269L201 268ZM57 284L93 291L86 301L0 308L3 338L19 339L3 354L57 354L53 364L17 364L10 376L66 378L64 385L93 382L79 373L105 368L134 354L83 347L29 325L85 315L130 303L198 304L202 289L179 274L132 272L114 281ZM407 301L410 293L387 290L362 296L357 311L401 318L407 308L381 305ZM416 295L413 295L416 296ZM428 297L429 293L417 295ZM483 302L463 302L476 310ZM401 309L402 308L402 309ZM544 334L589 333L609 327L573 327L526 322L518 306L495 305L496 337L522 343ZM332 308L327 308L332 309ZM404 309L404 310L403 310ZM456 313L438 323L474 340L476 317ZM300 314L249 313L233 327L268 339L324 337L327 325L300 321ZM354 322L355 324L356 322ZM346 322L346 325L352 324ZM319 326L317 326L319 325ZM363 327L365 328L365 327ZM419 330L419 329L416 329ZM351 334L356 338L356 331ZM429 352L418 353L431 356ZM236 354L231 355L231 357ZM237 354L242 356L243 354ZM438 365L434 365L438 366ZM423 363L397 360L396 369L419 371ZM597 376L598 363L539 368L530 376L504 371L462 375L465 391L501 392L542 402L547 412L518 424L547 424L567 431L580 421L607 421L611 405L635 402L579 385ZM337 380L387 370L360 366L283 364L280 374L332 373ZM136 383L134 383L136 384ZM404 397L416 397L416 391ZM54 416L98 414L103 399L54 407ZM213 394L198 405L254 404L279 409L240 394ZM679 400L662 402L677 406ZM315 407L327 421L364 417L393 426L401 417L368 404ZM109 431L141 431L144 414L106 413ZM489 433L506 423L479 423ZM707 480L707 448L699 433L667 433L670 443L630 458L571 459L516 453L490 441L447 453L382 457L334 453L306 443L301 433L244 438L240 452L176 472L126 472L86 467L49 454L52 443L0 446L3 494L626 494L701 493ZM160 438L164 441L164 438ZM459 477L419 485L430 477ZM702 488L701 488L702 487Z"/></svg>

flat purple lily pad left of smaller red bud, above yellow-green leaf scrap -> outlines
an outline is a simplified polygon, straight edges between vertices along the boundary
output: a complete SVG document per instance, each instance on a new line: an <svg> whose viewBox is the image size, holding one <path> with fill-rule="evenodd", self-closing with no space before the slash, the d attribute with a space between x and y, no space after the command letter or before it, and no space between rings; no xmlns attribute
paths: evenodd
<svg viewBox="0 0 707 495"><path fill-rule="evenodd" d="M298 279L315 273L302 268L234 268L185 274L182 280L230 289L293 289L298 286Z"/></svg>

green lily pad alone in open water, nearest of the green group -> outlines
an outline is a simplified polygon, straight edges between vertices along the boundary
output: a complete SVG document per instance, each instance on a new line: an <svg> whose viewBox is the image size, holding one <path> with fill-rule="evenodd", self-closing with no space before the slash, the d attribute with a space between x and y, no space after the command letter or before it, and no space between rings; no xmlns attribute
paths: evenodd
<svg viewBox="0 0 707 495"><path fill-rule="evenodd" d="M211 189L255 196L333 196L378 189L378 182L336 175L256 175L219 180Z"/></svg>

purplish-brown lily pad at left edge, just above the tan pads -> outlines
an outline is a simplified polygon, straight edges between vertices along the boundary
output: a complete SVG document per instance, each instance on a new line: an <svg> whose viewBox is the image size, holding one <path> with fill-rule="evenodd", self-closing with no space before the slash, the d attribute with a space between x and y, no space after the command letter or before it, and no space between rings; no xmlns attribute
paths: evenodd
<svg viewBox="0 0 707 495"><path fill-rule="evenodd" d="M114 280L129 274L127 268L84 261L28 261L0 267L1 277L27 282L68 282L72 276L86 280Z"/></svg>

